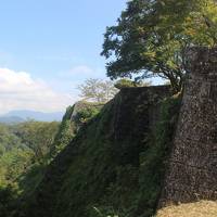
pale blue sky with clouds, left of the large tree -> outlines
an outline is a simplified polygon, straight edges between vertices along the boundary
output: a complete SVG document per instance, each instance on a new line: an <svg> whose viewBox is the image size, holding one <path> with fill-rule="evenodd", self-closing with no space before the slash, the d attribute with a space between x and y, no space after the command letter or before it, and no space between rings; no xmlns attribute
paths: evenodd
<svg viewBox="0 0 217 217"><path fill-rule="evenodd" d="M115 24L126 2L0 0L0 85L3 84L8 89L13 86L10 94L3 94L5 90L0 89L0 100L12 95L11 92L16 92L15 88L20 86L22 88L16 95L23 93L16 105L11 102L15 98L13 95L13 100L5 102L7 107L5 103L0 104L0 110L8 112L24 106L44 110L46 103L39 101L38 106L34 102L27 104L24 95L37 91L36 87L40 89L41 86L41 90L46 91L47 88L50 94L53 91L59 98L71 98L65 99L64 103L60 102L60 106L46 107L48 112L63 110L67 103L77 100L77 84L89 77L104 78L105 60L100 56L103 33L106 26ZM17 84L11 82L9 77L18 80ZM31 82L34 89L29 87ZM23 89L25 86L26 92Z"/></svg>

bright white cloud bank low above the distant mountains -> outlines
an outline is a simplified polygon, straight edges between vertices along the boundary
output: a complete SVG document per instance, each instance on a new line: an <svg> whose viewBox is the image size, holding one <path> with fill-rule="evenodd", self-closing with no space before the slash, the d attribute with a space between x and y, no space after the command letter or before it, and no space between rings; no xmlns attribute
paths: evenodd
<svg viewBox="0 0 217 217"><path fill-rule="evenodd" d="M75 100L58 93L43 80L30 74L0 68L0 113L11 110L58 112L65 110Z"/></svg>

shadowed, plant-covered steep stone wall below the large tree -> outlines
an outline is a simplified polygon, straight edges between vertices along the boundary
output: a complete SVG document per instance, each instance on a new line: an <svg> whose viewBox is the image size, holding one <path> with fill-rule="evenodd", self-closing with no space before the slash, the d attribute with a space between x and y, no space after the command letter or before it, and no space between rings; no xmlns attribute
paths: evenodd
<svg viewBox="0 0 217 217"><path fill-rule="evenodd" d="M168 90L123 89L51 163L27 215L154 214L179 110Z"/></svg>

